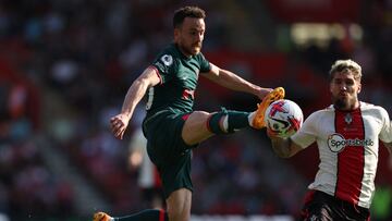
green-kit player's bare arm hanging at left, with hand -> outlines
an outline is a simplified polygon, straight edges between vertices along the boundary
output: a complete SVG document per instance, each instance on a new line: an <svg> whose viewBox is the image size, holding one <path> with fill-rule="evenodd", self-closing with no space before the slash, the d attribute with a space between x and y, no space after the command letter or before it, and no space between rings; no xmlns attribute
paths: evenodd
<svg viewBox="0 0 392 221"><path fill-rule="evenodd" d="M135 107L142 100L147 89L159 83L160 78L157 71L151 67L147 67L143 74L132 83L126 93L121 113L110 119L111 131L117 138L123 138Z"/></svg>

